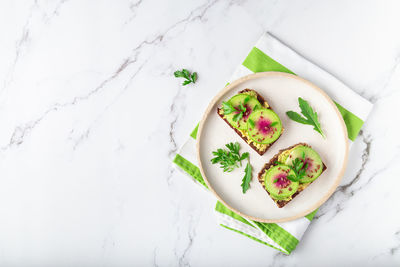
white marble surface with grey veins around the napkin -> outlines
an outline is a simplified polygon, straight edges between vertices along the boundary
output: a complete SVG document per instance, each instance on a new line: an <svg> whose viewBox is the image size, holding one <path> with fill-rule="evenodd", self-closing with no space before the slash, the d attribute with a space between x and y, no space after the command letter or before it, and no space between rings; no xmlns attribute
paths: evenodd
<svg viewBox="0 0 400 267"><path fill-rule="evenodd" d="M1 266L400 263L398 1L0 2ZM266 30L375 103L290 256L171 159ZM198 83L172 76L187 67ZM146 114L146 116L142 116Z"/></svg>

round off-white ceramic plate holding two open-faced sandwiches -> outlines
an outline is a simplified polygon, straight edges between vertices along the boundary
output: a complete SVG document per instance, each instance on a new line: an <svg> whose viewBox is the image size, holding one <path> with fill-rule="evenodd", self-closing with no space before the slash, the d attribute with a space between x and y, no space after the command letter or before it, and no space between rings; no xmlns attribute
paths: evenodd
<svg viewBox="0 0 400 267"><path fill-rule="evenodd" d="M256 90L282 120L284 132L275 144L260 156L216 113L222 101L245 88ZM290 120L288 110L300 113L298 97L307 100L318 113L326 135L324 139L310 125ZM211 164L212 151L229 142L239 142L241 152L250 153L253 178L250 189L242 193L244 166L230 173L222 172L219 164ZM258 182L263 165L280 149L299 142L312 146L327 166L325 172L289 204L278 208ZM225 87L209 104L197 134L197 156L200 171L210 190L236 213L261 222L283 222L303 217L322 205L338 186L347 164L348 141L343 118L332 100L317 86L298 76L281 72L263 72L242 77Z"/></svg>

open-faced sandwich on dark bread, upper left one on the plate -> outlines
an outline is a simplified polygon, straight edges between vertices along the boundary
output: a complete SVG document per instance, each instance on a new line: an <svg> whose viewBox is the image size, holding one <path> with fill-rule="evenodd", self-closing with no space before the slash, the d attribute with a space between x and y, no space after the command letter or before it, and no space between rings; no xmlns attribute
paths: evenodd
<svg viewBox="0 0 400 267"><path fill-rule="evenodd" d="M251 89L244 89L222 102L217 113L260 155L278 140L283 131L278 115L261 95Z"/></svg>

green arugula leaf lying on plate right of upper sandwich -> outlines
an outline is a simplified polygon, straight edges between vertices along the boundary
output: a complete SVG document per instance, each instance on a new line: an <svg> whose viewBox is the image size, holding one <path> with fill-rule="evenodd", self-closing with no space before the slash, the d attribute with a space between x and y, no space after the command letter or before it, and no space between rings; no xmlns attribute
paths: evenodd
<svg viewBox="0 0 400 267"><path fill-rule="evenodd" d="M314 130L320 133L322 137L325 138L321 125L318 121L317 112L315 112L310 106L310 104L308 104L308 102L303 98L299 97L298 100L299 100L299 107L301 109L301 114L303 114L304 117L294 111L287 111L286 115L295 122L314 126Z"/></svg>

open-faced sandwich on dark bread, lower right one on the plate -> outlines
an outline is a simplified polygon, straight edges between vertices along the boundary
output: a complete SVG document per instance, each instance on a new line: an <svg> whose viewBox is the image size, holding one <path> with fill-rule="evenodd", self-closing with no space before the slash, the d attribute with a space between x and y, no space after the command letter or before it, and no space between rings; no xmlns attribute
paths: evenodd
<svg viewBox="0 0 400 267"><path fill-rule="evenodd" d="M299 143L280 150L258 174L258 181L279 208L284 207L326 170L318 153Z"/></svg>

